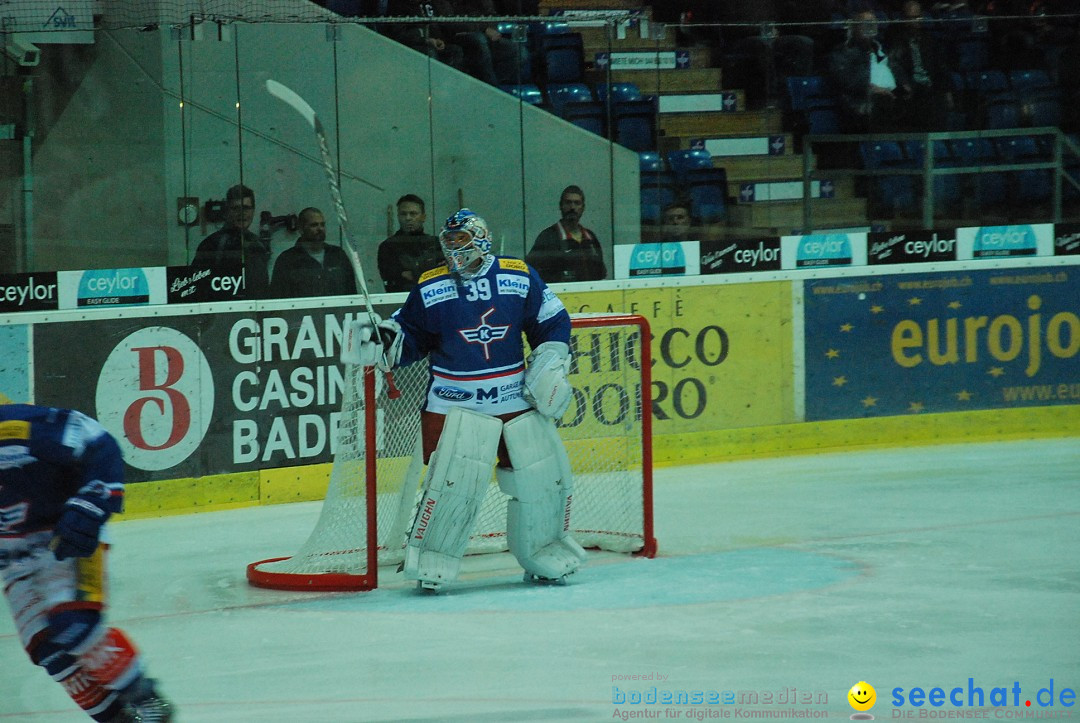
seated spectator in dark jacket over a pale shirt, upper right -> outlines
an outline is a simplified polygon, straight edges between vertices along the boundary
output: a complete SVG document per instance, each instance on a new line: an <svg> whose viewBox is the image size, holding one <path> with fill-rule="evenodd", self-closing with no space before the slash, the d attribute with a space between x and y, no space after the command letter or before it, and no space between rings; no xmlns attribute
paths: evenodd
<svg viewBox="0 0 1080 723"><path fill-rule="evenodd" d="M829 55L828 75L838 91L847 132L903 128L902 101L910 86L903 68L892 64L878 41L877 15L868 5L851 13L848 40Z"/></svg>

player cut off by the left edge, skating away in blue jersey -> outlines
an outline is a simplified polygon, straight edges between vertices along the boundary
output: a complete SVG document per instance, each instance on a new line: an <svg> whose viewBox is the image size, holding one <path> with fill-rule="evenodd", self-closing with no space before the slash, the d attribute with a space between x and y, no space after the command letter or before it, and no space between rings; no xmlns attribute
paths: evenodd
<svg viewBox="0 0 1080 723"><path fill-rule="evenodd" d="M134 644L103 619L102 527L123 471L86 415L0 403L0 579L23 646L95 721L168 721Z"/></svg>

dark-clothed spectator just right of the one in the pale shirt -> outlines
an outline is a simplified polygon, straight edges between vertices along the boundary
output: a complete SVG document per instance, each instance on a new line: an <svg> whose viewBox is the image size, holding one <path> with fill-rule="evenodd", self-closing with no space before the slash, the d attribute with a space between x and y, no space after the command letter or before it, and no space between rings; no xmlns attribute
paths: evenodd
<svg viewBox="0 0 1080 723"><path fill-rule="evenodd" d="M904 22L893 27L889 62L908 78L904 101L908 122L903 130L943 131L953 96L942 49L926 30L919 2L904 2L900 19Z"/></svg>

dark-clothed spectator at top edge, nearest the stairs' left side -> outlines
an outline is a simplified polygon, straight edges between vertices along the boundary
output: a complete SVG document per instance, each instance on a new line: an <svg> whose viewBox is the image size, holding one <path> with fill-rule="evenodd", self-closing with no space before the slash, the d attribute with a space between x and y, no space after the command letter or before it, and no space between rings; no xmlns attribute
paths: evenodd
<svg viewBox="0 0 1080 723"><path fill-rule="evenodd" d="M500 14L495 0L454 0L455 13L471 17ZM524 43L504 37L491 23L457 25L454 41L464 51L464 70L491 85L513 85L528 80Z"/></svg>

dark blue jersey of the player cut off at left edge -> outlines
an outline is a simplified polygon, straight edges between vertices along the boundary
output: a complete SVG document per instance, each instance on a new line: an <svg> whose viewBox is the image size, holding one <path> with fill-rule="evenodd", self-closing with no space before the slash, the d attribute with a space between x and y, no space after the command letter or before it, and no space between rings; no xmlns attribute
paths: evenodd
<svg viewBox="0 0 1080 723"><path fill-rule="evenodd" d="M104 485L104 507L120 511L123 473L117 441L85 414L0 404L0 548L51 530L64 504L86 485Z"/></svg>

